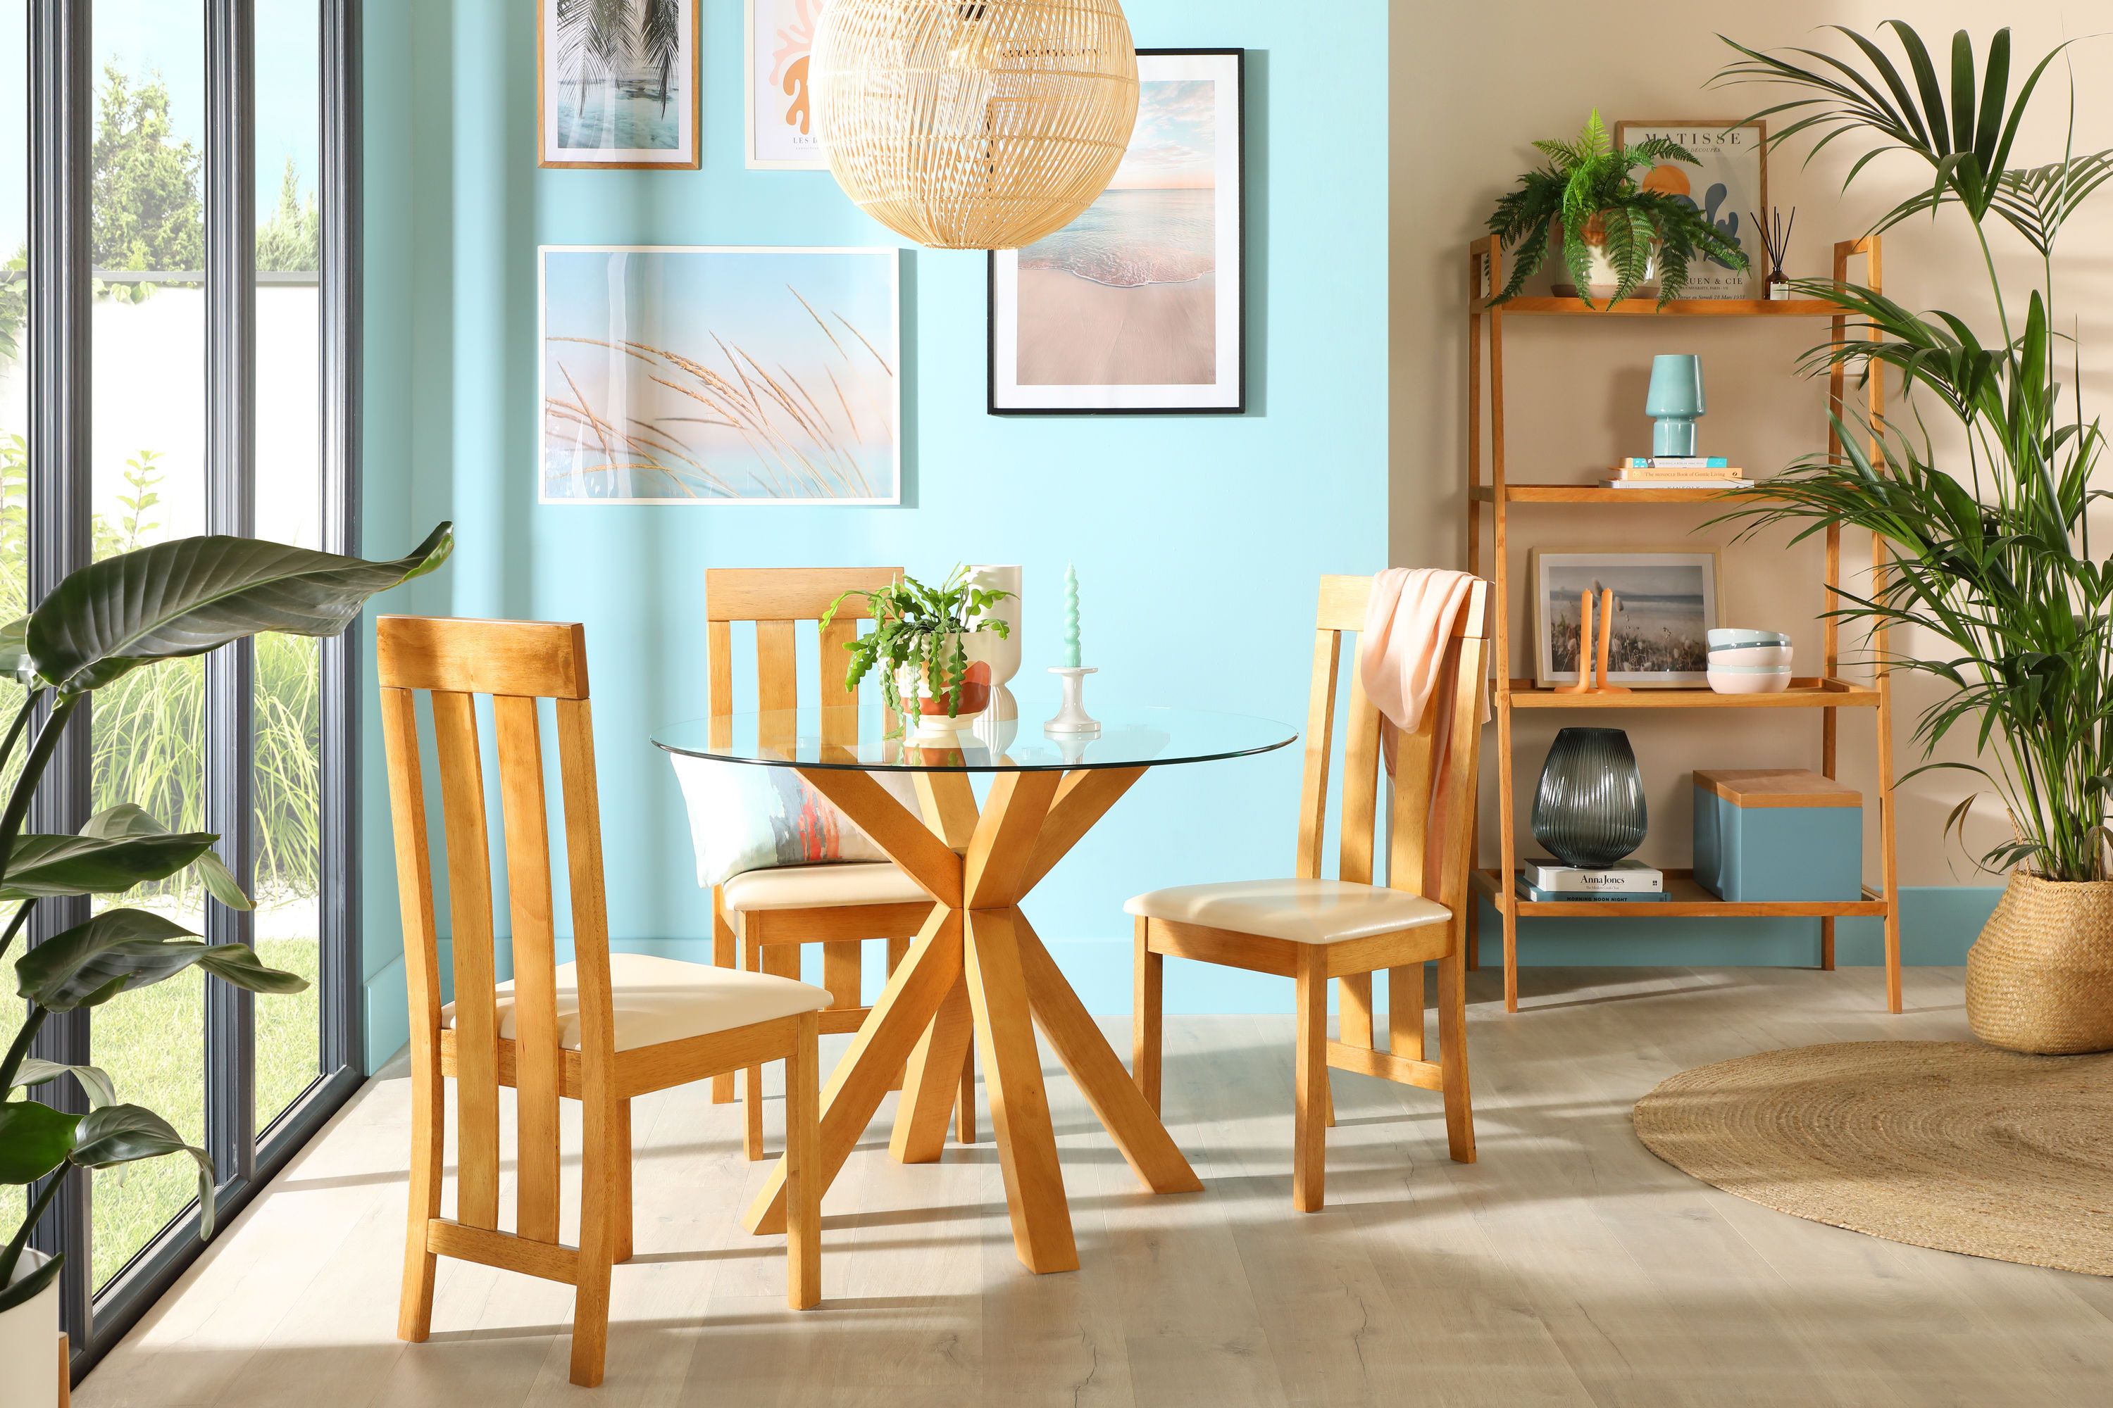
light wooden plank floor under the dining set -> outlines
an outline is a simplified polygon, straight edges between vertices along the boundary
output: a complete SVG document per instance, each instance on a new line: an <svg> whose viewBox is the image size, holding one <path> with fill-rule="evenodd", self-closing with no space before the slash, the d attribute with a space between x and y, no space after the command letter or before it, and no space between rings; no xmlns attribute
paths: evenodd
<svg viewBox="0 0 2113 1408"><path fill-rule="evenodd" d="M1329 1205L1297 1216L1291 1020L1168 1017L1168 1127L1204 1193L1139 1193L1056 1079L1084 1269L1029 1277L991 1144L900 1167L877 1123L824 1207L826 1300L807 1313L784 1309L780 1243L735 1226L765 1167L740 1155L740 1106L647 1098L638 1256L617 1267L592 1400L566 1385L556 1286L444 1260L433 1340L393 1338L408 1096L382 1079L74 1402L2113 1402L2113 1283L1800 1222L1693 1182L1629 1129L1631 1102L1686 1066L1963 1036L1957 969L1908 969L1904 1017L1878 1011L1874 969L1523 982L1515 1017L1490 973L1475 986L1477 1165L1447 1163L1435 1096L1338 1072Z"/></svg>

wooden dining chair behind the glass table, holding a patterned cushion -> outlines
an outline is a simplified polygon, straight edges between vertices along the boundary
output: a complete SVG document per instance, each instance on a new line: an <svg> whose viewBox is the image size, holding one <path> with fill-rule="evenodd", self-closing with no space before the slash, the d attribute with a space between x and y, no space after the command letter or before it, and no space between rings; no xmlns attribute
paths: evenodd
<svg viewBox="0 0 2113 1408"><path fill-rule="evenodd" d="M799 707L794 627L820 623L845 591L875 591L902 576L902 568L706 568L704 616L710 648L708 707L714 722L733 716L733 625L752 623L756 635L756 711ZM824 741L858 741L858 699L843 690L845 646L858 623L873 616L862 597L849 597L828 629L818 631L818 711ZM961 781L961 779L955 779ZM938 785L947 785L940 781ZM964 783L966 785L966 783ZM919 775L921 794L934 779ZM921 796L925 815L940 827L936 802ZM957 813L949 811L949 817ZM966 813L974 817L974 808ZM966 846L968 836L949 838ZM909 941L932 912L932 895L894 861L849 861L839 865L782 865L748 870L712 891L712 960L765 973L797 975L801 946L822 946L822 986L830 1005L822 1013L824 1032L856 1032L866 1020L862 1005L864 939L887 939L892 973ZM955 1131L964 1144L976 1138L976 1074L964 1062L955 1100ZM763 1070L744 1081L742 1144L750 1159L763 1159ZM733 1081L712 1083L712 1100L733 1098Z"/></svg>

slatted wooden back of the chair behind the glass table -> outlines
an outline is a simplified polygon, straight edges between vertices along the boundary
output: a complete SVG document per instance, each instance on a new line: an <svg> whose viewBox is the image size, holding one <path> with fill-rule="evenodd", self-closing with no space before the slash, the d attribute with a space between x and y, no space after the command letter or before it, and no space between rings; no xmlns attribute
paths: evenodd
<svg viewBox="0 0 2113 1408"><path fill-rule="evenodd" d="M879 591L898 581L902 568L706 568L704 621L710 654L708 707L712 741L733 716L733 623L756 627L756 709L763 713L799 707L799 659L794 625L820 621L845 591ZM843 648L858 638L858 623L871 619L864 600L852 597L820 631L822 741L858 743L858 699L837 688L843 682Z"/></svg>

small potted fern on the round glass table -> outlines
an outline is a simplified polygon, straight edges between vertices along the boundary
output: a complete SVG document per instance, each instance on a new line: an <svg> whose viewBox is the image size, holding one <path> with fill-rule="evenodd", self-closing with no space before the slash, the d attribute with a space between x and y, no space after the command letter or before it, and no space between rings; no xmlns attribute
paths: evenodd
<svg viewBox="0 0 2113 1408"><path fill-rule="evenodd" d="M978 587L968 568L955 568L938 587L904 576L879 591L845 591L828 604L822 627L837 619L845 600L864 597L873 631L845 642L852 661L843 688L856 690L879 669L890 711L906 722L913 713L906 701L915 701L917 718L930 720L923 726L934 732L949 730L961 713L980 713L991 703L991 669L970 665L968 638L976 631L1010 635L1004 619L989 614L1010 595Z"/></svg>

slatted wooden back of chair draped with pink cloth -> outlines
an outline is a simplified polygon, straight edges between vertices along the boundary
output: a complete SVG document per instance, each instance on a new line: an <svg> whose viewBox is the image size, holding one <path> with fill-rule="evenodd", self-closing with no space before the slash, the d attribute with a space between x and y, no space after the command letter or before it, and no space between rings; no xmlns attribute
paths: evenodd
<svg viewBox="0 0 2113 1408"><path fill-rule="evenodd" d="M1365 627L1365 606L1371 600L1369 576L1323 576L1321 612L1314 627L1312 697L1306 716L1306 766L1299 781L1299 878L1319 878L1327 832L1327 783L1335 730L1335 678L1342 665L1344 635ZM1354 650L1354 642L1352 642ZM1386 882L1395 889L1422 891L1424 855L1443 846L1441 893L1431 895L1456 914L1466 901L1469 855L1475 827L1475 787L1481 735L1481 688L1490 659L1490 587L1475 583L1466 604L1454 616L1454 633L1445 644L1450 697L1433 697L1414 732L1403 732L1395 754L1392 844L1388 849ZM1433 766L1439 720L1450 716L1447 758L1443 766L1445 796L1433 796L1441 768ZM1344 722L1342 749L1342 825L1335 876L1369 884L1380 798L1380 709L1365 692L1363 671L1350 669L1350 707ZM1433 813L1433 802L1437 808ZM1447 834L1428 836L1431 817L1450 819Z"/></svg>

